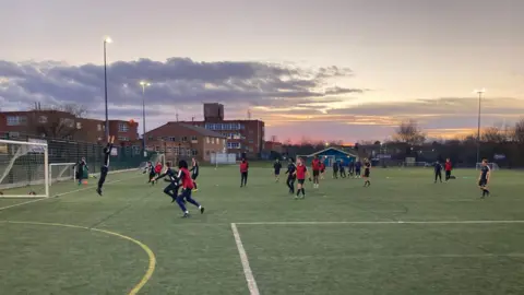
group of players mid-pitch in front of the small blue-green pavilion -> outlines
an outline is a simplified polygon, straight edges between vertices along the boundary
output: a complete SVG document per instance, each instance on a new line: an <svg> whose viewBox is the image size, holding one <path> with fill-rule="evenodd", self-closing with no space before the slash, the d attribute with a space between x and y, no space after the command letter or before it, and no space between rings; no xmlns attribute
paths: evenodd
<svg viewBox="0 0 524 295"><path fill-rule="evenodd" d="M309 181L313 182L313 188L320 187L320 180L324 179L325 175L325 158L319 158L318 156L313 157L311 162L311 170L312 170L312 178L309 175L308 168L305 164L303 158L298 157L295 162L294 158L288 160L287 170L285 174L287 175L286 185L289 188L289 193L295 194L295 199L303 199L306 197L305 190L305 182L308 178ZM360 162L358 162L360 163ZM355 178L360 177L360 165L353 165L353 162L349 164L349 167L355 168ZM336 168L335 168L336 167ZM276 160L273 164L275 181L278 182L281 177L281 169L282 163L279 160ZM353 169L350 170L350 175L353 175ZM333 163L333 178L338 178L338 173L341 173L341 177L345 178L346 173L344 168L344 163L342 161ZM364 161L364 187L371 186L371 163L366 158ZM295 181L297 181L297 189L295 190Z"/></svg>

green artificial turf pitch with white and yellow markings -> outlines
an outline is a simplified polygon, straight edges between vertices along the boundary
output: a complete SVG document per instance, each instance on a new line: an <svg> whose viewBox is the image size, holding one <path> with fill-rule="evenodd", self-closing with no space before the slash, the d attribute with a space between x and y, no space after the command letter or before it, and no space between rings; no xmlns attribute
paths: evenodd
<svg viewBox="0 0 524 295"><path fill-rule="evenodd" d="M237 241L251 294L524 294L524 174L493 172L485 200L475 170L454 175L374 168L364 188L327 173L294 200L271 168L239 188L238 167L205 167L189 220L139 172L109 175L104 197L94 179L53 185L66 194L0 199L0 294L250 294Z"/></svg>

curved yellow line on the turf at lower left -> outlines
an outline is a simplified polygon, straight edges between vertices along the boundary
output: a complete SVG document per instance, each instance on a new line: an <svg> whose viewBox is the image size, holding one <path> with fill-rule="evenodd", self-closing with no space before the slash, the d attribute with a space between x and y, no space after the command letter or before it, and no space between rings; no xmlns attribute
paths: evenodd
<svg viewBox="0 0 524 295"><path fill-rule="evenodd" d="M153 276L153 273L155 272L156 268L156 257L155 253L151 250L147 245L143 244L142 241L134 239L129 236L124 236L115 232L109 232L105 229L98 229L98 228L90 228L86 226L80 226L80 225L73 225L73 224L63 224L63 223L45 223L45 222L23 222L23 221L0 221L0 223L12 223L12 224L29 224L29 225L45 225L45 226L60 226L60 227L69 227L69 228L78 228L78 229L85 229L85 231L93 231L93 232L98 232L103 233L106 235L111 235L116 236L122 239L127 239L135 245L139 245L146 253L150 259L150 263L147 267L147 271L145 274L142 276L142 280L131 288L131 291L128 293L129 295L136 295L139 294L140 290L150 281L150 279Z"/></svg>

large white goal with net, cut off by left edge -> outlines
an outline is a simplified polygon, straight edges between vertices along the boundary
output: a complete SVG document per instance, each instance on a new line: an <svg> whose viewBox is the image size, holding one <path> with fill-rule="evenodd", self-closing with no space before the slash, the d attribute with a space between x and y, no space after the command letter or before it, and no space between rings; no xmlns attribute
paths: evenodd
<svg viewBox="0 0 524 295"><path fill-rule="evenodd" d="M49 197L47 143L0 140L0 198Z"/></svg>

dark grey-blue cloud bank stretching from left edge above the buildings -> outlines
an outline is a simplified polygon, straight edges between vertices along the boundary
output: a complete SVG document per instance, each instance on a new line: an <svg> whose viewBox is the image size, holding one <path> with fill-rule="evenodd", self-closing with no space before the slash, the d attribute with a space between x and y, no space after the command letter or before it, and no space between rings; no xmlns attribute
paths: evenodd
<svg viewBox="0 0 524 295"><path fill-rule="evenodd" d="M226 107L237 108L289 107L319 103L319 98L332 94L364 92L358 88L324 90L330 79L353 75L349 69L338 67L307 69L266 62L140 59L111 63L107 75L108 101L114 109L120 107L119 114L123 113L122 107L131 113L141 106L139 82L143 79L152 83L145 90L145 97L153 109L181 109L202 102L221 102ZM29 107L35 102L43 105L67 102L86 105L98 114L104 105L104 68L56 61L0 61L0 97L3 109Z"/></svg>

